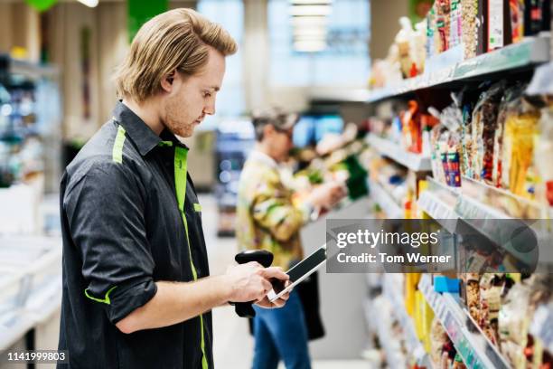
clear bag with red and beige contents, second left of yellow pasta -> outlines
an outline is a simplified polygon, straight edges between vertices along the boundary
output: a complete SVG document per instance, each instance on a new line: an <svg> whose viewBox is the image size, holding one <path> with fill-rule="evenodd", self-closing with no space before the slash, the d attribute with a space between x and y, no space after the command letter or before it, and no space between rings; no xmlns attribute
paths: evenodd
<svg viewBox="0 0 553 369"><path fill-rule="evenodd" d="M472 147L473 178L492 183L493 140L497 115L505 81L501 80L485 90L473 110Z"/></svg>

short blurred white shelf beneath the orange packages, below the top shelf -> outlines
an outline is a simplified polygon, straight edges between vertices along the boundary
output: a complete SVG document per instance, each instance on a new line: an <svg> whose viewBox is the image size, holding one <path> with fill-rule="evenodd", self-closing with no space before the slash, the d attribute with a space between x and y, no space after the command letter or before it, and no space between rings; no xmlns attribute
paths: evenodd
<svg viewBox="0 0 553 369"><path fill-rule="evenodd" d="M406 166L415 172L429 172L432 170L430 156L410 153L399 147L398 144L375 135L369 135L367 142L371 147L380 152L381 155L388 156L390 159L398 162L398 164Z"/></svg>

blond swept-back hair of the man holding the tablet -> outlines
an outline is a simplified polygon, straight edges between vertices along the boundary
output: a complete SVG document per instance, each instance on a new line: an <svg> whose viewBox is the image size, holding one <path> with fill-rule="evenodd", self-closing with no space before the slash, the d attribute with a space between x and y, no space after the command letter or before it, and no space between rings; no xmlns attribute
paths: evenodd
<svg viewBox="0 0 553 369"><path fill-rule="evenodd" d="M220 24L192 9L173 9L140 27L125 60L116 71L117 95L142 102L161 90L172 71L192 75L208 61L209 47L223 55L238 46Z"/></svg>

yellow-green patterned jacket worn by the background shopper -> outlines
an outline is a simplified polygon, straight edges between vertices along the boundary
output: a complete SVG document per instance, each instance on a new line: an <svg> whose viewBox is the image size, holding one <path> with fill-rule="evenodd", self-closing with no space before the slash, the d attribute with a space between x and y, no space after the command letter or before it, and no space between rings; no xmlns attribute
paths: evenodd
<svg viewBox="0 0 553 369"><path fill-rule="evenodd" d="M284 270L302 260L299 230L311 209L296 207L292 194L281 181L277 163L253 151L239 180L236 234L240 250L271 251L273 265Z"/></svg>

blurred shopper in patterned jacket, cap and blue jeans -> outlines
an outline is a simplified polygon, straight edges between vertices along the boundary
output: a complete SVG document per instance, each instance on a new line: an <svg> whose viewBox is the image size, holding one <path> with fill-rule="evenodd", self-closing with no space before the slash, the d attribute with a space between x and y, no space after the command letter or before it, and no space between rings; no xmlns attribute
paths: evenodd
<svg viewBox="0 0 553 369"><path fill-rule="evenodd" d="M293 191L281 180L279 163L292 148L295 114L269 109L253 119L257 145L244 165L239 180L237 239L240 250L267 250L273 265L288 270L303 259L299 239L301 227L314 209L330 207L344 195L341 185L326 184L314 189L300 205L292 202ZM310 368L307 330L301 301L292 291L286 306L256 309L256 341L253 368Z"/></svg>

